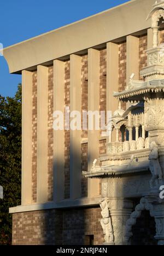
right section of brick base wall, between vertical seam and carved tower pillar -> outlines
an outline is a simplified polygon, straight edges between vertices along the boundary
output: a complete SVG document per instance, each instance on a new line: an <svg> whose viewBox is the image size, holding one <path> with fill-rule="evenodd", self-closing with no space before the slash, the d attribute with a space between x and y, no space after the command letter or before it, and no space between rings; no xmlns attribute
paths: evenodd
<svg viewBox="0 0 164 256"><path fill-rule="evenodd" d="M94 245L104 242L99 220L101 208L71 209L63 213L63 241L68 245L83 245L86 235L94 235Z"/></svg>

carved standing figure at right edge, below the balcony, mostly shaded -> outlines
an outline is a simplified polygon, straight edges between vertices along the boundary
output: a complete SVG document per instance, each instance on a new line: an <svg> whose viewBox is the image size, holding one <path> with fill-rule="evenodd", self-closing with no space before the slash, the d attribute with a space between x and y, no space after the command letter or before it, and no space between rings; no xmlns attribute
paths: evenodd
<svg viewBox="0 0 164 256"><path fill-rule="evenodd" d="M150 154L149 154L149 169L152 174L152 178L150 180L150 187L153 189L154 187L159 186L159 181L162 181L162 169L159 162L159 150L155 141L150 143ZM155 182L155 186L154 186ZM161 182L160 182L161 183Z"/></svg>

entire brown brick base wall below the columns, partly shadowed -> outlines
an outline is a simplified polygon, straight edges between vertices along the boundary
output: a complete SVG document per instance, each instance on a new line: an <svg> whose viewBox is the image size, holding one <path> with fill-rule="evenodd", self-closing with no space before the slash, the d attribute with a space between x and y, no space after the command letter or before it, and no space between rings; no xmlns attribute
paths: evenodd
<svg viewBox="0 0 164 256"><path fill-rule="evenodd" d="M13 245L84 244L94 235L95 245L104 242L99 220L101 209L46 210L13 214Z"/></svg>

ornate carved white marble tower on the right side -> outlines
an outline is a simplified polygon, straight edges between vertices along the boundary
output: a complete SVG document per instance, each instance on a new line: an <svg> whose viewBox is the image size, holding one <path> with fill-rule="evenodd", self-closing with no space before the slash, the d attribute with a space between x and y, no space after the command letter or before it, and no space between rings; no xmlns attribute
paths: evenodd
<svg viewBox="0 0 164 256"><path fill-rule="evenodd" d="M126 89L114 93L119 109L111 120L107 153L99 157L101 164L83 173L101 178L102 202L108 203L111 219L110 230L103 228L105 237L113 231L109 244L131 244L132 227L147 210L155 219L157 244L164 245L164 201L159 196L164 184L164 45L158 36L164 1L155 2L147 19L152 20L153 48L147 50L148 64L140 71L143 80L135 81L132 74ZM134 209L135 198L140 202Z"/></svg>

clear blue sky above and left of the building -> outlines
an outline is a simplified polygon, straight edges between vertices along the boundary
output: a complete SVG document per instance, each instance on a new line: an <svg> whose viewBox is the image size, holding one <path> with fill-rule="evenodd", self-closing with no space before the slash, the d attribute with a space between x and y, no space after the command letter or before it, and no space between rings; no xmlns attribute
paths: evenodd
<svg viewBox="0 0 164 256"><path fill-rule="evenodd" d="M3 47L102 12L128 0L1 0L0 43ZM21 75L10 75L0 56L0 94L14 96Z"/></svg>

